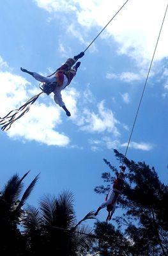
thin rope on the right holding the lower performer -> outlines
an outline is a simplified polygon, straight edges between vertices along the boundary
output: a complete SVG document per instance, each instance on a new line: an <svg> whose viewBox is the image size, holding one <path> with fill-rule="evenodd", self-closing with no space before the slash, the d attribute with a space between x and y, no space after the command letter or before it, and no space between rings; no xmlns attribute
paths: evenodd
<svg viewBox="0 0 168 256"><path fill-rule="evenodd" d="M149 70L148 70L148 74L147 74L147 76L146 76L146 81L145 81L145 83L144 83L144 88L143 88L143 90L142 90L141 99L139 100L139 105L138 105L138 108L137 108L137 113L136 113L135 118L134 118L134 124L132 125L132 131L130 132L130 137L129 137L129 140L128 140L128 145L127 145L127 147L126 147L125 155L124 155L124 157L123 157L123 164L124 164L124 161L125 161L126 153L127 153L127 151L128 151L128 147L129 147L129 145L130 145L130 140L131 140L131 138L132 138L132 133L133 133L133 131L134 131L135 122L136 122L136 120L137 120L137 116L138 116L138 113L139 113L139 109L140 109L140 107L141 107L142 98L143 98L143 96L144 96L144 91L145 91L145 89L146 89L146 84L147 84L148 77L149 77L149 73L150 73L150 71L151 71L151 66L152 66L152 64L153 64L153 60L154 60L154 57L155 57L155 52L157 51L158 41L159 41L159 39L160 39L160 34L161 34L161 32L162 32L162 27L163 27L163 25L164 25L165 15L166 15L166 13L167 13L167 8L168 8L168 3L167 3L167 7L166 7L166 9L165 9L164 18L163 18L163 20L162 20L162 25L161 25L160 31L159 31L159 33L158 33L158 38L157 38L157 43L156 43L156 45L155 45L155 50L154 50L154 52L153 52L153 56L152 56L152 59L151 59L151 63L150 63L150 65L149 65ZM122 166L123 166L123 164L122 164Z"/></svg>

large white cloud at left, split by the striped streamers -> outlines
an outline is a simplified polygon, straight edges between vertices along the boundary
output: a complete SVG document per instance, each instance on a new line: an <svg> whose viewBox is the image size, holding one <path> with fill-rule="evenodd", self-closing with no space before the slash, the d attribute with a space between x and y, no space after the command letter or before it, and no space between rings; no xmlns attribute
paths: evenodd
<svg viewBox="0 0 168 256"><path fill-rule="evenodd" d="M1 63L5 63L3 67L8 67L2 58L0 60ZM34 93L39 92L24 77L16 76L10 72L0 72L0 83L3 85L0 93L1 117L11 109L20 107ZM71 97L67 97L68 100L72 102ZM47 105L40 103L40 101L39 99L31 106L29 112L15 122L6 134L14 139L34 140L59 147L67 146L70 143L68 136L55 130L62 122L61 108L54 106L50 97Z"/></svg>

